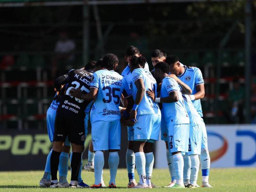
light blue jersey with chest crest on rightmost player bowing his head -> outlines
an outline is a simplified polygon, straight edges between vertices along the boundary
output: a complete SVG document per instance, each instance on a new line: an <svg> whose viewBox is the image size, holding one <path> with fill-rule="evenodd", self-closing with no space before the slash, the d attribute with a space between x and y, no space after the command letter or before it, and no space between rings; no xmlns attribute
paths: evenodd
<svg viewBox="0 0 256 192"><path fill-rule="evenodd" d="M184 65L184 67L184 72L177 77L190 87L190 89L192 90L192 94L196 94L196 85L204 84L202 72L199 68L196 67L187 67L186 65ZM194 104L196 111L202 117L203 112L200 99L194 100L192 101L192 103Z"/></svg>

